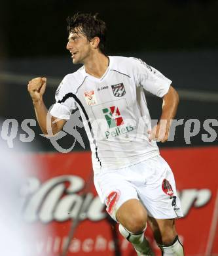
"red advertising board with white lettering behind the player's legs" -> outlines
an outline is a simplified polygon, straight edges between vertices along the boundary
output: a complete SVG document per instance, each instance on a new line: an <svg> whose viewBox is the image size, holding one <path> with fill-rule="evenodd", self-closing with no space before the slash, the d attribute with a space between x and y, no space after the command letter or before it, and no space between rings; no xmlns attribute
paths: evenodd
<svg viewBox="0 0 218 256"><path fill-rule="evenodd" d="M185 217L177 231L185 255L218 255L218 147L161 150L172 167ZM27 225L47 232L35 244L39 256L61 255L71 225L79 220L67 255L115 255L113 226L107 218L92 182L90 152L41 153L30 156L24 203ZM29 155L28 155L29 158ZM151 230L146 232L156 255L161 255ZM122 255L136 255L132 245L118 236Z"/></svg>

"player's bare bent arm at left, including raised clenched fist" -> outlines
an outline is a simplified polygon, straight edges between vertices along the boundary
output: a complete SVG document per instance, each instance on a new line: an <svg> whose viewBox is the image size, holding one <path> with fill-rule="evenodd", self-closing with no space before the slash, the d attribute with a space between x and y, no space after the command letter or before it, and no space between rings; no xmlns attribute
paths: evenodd
<svg viewBox="0 0 218 256"><path fill-rule="evenodd" d="M51 116L48 112L44 102L43 94L46 88L46 78L37 77L29 81L28 91L33 100L33 106L35 108L35 115L41 130L45 135L55 135L62 130L66 122L65 119L58 119Z"/></svg>

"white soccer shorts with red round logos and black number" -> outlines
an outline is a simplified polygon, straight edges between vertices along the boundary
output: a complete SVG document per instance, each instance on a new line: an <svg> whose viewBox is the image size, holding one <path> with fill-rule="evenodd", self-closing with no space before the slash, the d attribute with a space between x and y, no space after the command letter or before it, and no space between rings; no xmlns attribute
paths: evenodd
<svg viewBox="0 0 218 256"><path fill-rule="evenodd" d="M161 156L116 171L98 173L94 184L101 202L115 221L120 205L130 199L140 200L148 215L155 219L183 217L172 170Z"/></svg>

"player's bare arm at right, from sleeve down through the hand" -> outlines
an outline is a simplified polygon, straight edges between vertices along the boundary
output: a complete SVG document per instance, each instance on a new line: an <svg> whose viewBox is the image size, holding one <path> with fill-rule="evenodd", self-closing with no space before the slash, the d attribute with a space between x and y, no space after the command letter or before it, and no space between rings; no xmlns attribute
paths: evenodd
<svg viewBox="0 0 218 256"><path fill-rule="evenodd" d="M162 115L157 125L155 125L151 131L148 131L149 141L156 140L166 142L166 140L168 140L170 125L177 112L179 95L172 86L170 86L168 93L166 93L162 99Z"/></svg>

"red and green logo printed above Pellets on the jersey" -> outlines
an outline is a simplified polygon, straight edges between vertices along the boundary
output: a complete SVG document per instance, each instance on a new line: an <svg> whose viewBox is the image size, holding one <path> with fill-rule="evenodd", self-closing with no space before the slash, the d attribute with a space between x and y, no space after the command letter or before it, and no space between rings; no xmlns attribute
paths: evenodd
<svg viewBox="0 0 218 256"><path fill-rule="evenodd" d="M105 119L107 120L107 124L109 128L124 125L124 121L122 119L122 116L120 115L120 111L116 106L103 108L102 111L103 111L103 114L105 115Z"/></svg>

